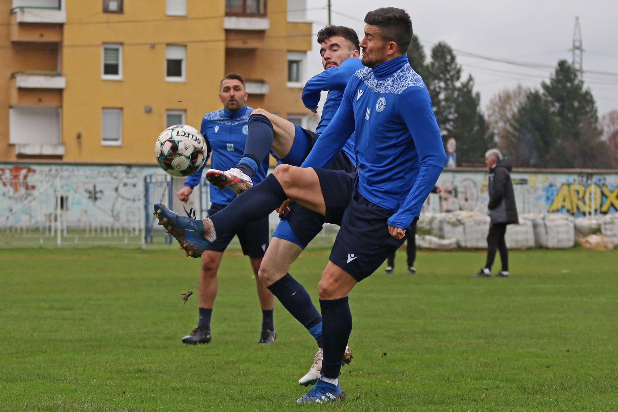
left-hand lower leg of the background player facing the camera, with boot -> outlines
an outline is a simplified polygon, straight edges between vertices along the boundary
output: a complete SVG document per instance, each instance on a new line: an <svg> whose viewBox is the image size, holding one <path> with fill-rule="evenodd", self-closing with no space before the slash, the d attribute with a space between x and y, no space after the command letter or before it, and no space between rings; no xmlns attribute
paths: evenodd
<svg viewBox="0 0 618 412"><path fill-rule="evenodd" d="M182 338L182 343L195 345L196 343L208 343L211 340L210 314L213 311L214 298L217 296L217 270L222 257L222 252L212 250L206 251L201 257L200 279L198 280L200 320L198 327Z"/></svg>

